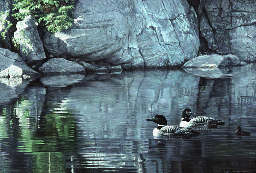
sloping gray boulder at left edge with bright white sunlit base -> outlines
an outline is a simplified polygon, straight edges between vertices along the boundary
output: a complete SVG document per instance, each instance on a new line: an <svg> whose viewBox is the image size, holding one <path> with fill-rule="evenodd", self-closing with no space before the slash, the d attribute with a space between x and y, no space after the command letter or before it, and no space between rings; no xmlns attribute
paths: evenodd
<svg viewBox="0 0 256 173"><path fill-rule="evenodd" d="M39 75L27 66L19 54L0 48L0 78L30 78Z"/></svg>

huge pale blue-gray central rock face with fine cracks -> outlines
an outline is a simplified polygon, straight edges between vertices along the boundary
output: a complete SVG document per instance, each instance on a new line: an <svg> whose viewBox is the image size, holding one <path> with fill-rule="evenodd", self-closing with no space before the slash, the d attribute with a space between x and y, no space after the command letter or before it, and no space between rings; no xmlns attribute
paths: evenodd
<svg viewBox="0 0 256 173"><path fill-rule="evenodd" d="M54 57L104 61L124 69L178 67L197 55L197 16L186 0L79 0L74 25L46 33Z"/></svg>

